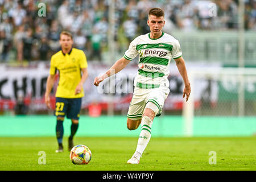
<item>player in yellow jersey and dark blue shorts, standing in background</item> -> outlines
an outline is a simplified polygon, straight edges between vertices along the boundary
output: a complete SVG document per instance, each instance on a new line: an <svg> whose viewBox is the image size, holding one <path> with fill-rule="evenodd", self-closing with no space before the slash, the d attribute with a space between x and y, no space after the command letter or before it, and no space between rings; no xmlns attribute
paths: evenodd
<svg viewBox="0 0 256 182"><path fill-rule="evenodd" d="M56 91L55 115L57 117L56 137L59 149L56 152L63 152L63 121L65 115L71 119L71 135L68 138L68 150L73 147L73 137L79 126L81 101L84 97L82 85L88 77L87 61L84 51L72 47L72 35L63 31L60 34L61 51L51 57L51 68L46 84L45 101L49 109L52 86L55 82L55 75L59 72L59 85ZM82 73L82 75L81 75Z"/></svg>

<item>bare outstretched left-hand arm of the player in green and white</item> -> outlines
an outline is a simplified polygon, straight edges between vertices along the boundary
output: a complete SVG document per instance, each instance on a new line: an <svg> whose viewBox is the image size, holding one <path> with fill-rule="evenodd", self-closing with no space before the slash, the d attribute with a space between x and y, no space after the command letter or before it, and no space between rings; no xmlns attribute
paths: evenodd
<svg viewBox="0 0 256 182"><path fill-rule="evenodd" d="M100 82L102 82L105 78L108 78L119 71L121 71L123 68L126 67L127 64L130 63L130 60L125 59L125 57L122 57L121 59L117 60L113 66L102 76L96 77L94 79L94 85L98 86Z"/></svg>

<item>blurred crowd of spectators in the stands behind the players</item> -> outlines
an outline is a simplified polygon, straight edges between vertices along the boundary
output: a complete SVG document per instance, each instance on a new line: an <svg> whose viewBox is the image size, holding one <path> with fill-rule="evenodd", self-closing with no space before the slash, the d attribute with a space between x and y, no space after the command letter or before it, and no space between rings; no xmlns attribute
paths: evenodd
<svg viewBox="0 0 256 182"><path fill-rule="evenodd" d="M149 32L148 9L162 7L168 30L236 30L238 0L114 0L117 44ZM39 16L39 3L46 16ZM71 31L74 47L88 60L103 60L108 48L110 0L0 0L0 62L49 61L59 34ZM245 0L245 30L256 31L256 0Z"/></svg>

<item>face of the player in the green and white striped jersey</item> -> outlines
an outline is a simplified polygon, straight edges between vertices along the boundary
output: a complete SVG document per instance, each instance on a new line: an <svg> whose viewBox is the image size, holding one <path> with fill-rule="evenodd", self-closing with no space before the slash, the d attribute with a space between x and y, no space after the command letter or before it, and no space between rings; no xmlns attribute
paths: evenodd
<svg viewBox="0 0 256 182"><path fill-rule="evenodd" d="M162 28L164 26L164 17L157 17L155 15L149 15L147 25L150 27L150 32L153 34L162 34Z"/></svg>

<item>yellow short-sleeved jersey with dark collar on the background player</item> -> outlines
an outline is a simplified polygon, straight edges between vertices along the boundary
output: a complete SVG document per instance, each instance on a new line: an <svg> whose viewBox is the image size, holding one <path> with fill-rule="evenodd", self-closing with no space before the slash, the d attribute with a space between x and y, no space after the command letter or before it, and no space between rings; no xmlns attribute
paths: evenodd
<svg viewBox="0 0 256 182"><path fill-rule="evenodd" d="M64 54L62 51L55 53L51 57L50 75L55 75L59 71L59 84L57 86L56 97L81 98L84 97L84 90L75 95L76 86L81 80L81 69L87 68L87 61L84 51L72 48Z"/></svg>

